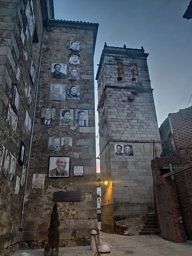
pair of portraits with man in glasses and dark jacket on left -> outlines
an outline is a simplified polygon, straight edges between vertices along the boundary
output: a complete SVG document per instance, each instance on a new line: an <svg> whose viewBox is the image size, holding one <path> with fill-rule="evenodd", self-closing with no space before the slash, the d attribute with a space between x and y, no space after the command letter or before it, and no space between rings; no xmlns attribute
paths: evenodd
<svg viewBox="0 0 192 256"><path fill-rule="evenodd" d="M67 77L67 64L52 63L51 78L65 79ZM79 67L69 68L69 79L80 79Z"/></svg>

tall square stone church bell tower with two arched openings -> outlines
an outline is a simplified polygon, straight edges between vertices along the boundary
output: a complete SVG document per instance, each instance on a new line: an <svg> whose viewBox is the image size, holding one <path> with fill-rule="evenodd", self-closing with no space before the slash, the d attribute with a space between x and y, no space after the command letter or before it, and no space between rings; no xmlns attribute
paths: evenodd
<svg viewBox="0 0 192 256"><path fill-rule="evenodd" d="M145 215L154 207L153 140L157 150L161 144L147 57L143 47L105 44L96 75L102 231L109 233L115 219Z"/></svg>

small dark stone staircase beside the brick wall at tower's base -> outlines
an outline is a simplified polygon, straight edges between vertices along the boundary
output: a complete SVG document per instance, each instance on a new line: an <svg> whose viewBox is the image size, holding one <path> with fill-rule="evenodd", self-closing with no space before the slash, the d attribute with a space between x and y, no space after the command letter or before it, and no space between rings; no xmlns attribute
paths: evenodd
<svg viewBox="0 0 192 256"><path fill-rule="evenodd" d="M146 214L146 221L143 229L140 231L140 235L157 235L159 233L157 225L157 217L155 214Z"/></svg>

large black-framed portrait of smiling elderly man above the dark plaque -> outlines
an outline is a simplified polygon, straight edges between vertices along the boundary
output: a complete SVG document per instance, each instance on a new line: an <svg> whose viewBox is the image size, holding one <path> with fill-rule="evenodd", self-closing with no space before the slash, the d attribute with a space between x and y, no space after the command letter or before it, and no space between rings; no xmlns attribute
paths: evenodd
<svg viewBox="0 0 192 256"><path fill-rule="evenodd" d="M49 157L48 177L70 177L70 157Z"/></svg>

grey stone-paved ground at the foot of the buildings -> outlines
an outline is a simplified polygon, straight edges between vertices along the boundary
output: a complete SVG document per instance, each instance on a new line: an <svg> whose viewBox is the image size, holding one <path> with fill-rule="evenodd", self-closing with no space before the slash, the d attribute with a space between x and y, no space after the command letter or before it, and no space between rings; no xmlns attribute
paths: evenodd
<svg viewBox="0 0 192 256"><path fill-rule="evenodd" d="M120 236L100 232L100 243L107 244L111 256L191 256L192 241L172 243L159 236ZM43 256L44 250L18 250L13 256L27 252L30 256ZM60 247L59 256L94 256L90 246Z"/></svg>

